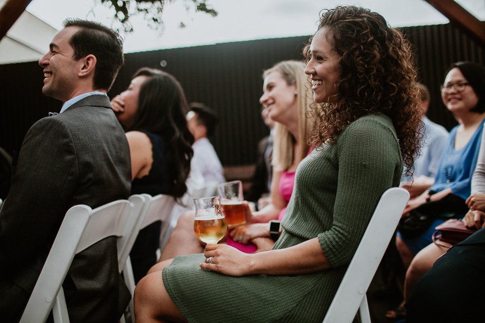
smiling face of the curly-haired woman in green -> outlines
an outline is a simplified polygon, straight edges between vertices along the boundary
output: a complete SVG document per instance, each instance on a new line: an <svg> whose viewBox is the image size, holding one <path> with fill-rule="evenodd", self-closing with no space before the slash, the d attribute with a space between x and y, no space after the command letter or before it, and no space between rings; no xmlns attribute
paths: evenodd
<svg viewBox="0 0 485 323"><path fill-rule="evenodd" d="M341 56L328 41L331 35L321 28L313 37L310 45L311 58L305 73L312 78L313 100L317 103L336 103L335 83L340 79Z"/></svg>

